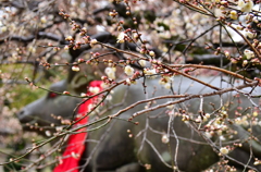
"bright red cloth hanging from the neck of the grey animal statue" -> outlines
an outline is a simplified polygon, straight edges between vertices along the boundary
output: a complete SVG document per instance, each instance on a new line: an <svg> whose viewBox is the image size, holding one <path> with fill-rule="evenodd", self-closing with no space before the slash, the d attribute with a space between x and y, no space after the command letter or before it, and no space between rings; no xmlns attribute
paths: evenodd
<svg viewBox="0 0 261 172"><path fill-rule="evenodd" d="M94 82L90 82L89 87L98 87L101 91L102 90L101 84L102 84L101 81L94 81ZM87 93L87 95L90 96L92 94ZM88 112L89 105L96 101L96 99L97 97L94 97L79 106L75 121L79 120ZM89 116L82 119L80 121L75 123L75 126L87 124L88 119ZM65 151L63 152L63 156L62 156L62 162L54 168L53 172L66 172L66 171L78 172L79 171L78 163L85 150L85 146L86 146L85 140L87 138L87 132L86 132L86 127L80 128L76 132L83 132L83 133L70 135Z"/></svg>

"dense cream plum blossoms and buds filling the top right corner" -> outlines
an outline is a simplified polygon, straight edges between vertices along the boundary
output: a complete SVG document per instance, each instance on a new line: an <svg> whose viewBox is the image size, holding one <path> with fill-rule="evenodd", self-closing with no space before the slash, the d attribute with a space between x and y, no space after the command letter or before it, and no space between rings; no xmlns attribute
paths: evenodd
<svg viewBox="0 0 261 172"><path fill-rule="evenodd" d="M201 12L210 17L215 19L215 21L221 23L225 29L232 29L227 30L228 33L224 32L228 36L221 35L220 38L222 38L224 42L236 42L244 40L244 42L246 42L247 45L245 49L240 51L238 51L239 49L237 49L237 53L235 53L234 49L226 49L224 47L212 47L212 50L214 50L214 54L223 53L232 63L240 64L245 69L260 64L261 51L258 35L261 25L259 19L260 10L257 8L260 3L259 1L213 0L212 3L208 1L200 3L196 3L196 1L194 1L195 3L190 3L188 1L186 2L189 3L191 8L195 8L195 10L198 10L202 7L204 9L208 9L213 13L211 14L204 10L202 10ZM214 38L212 40L215 41Z"/></svg>

